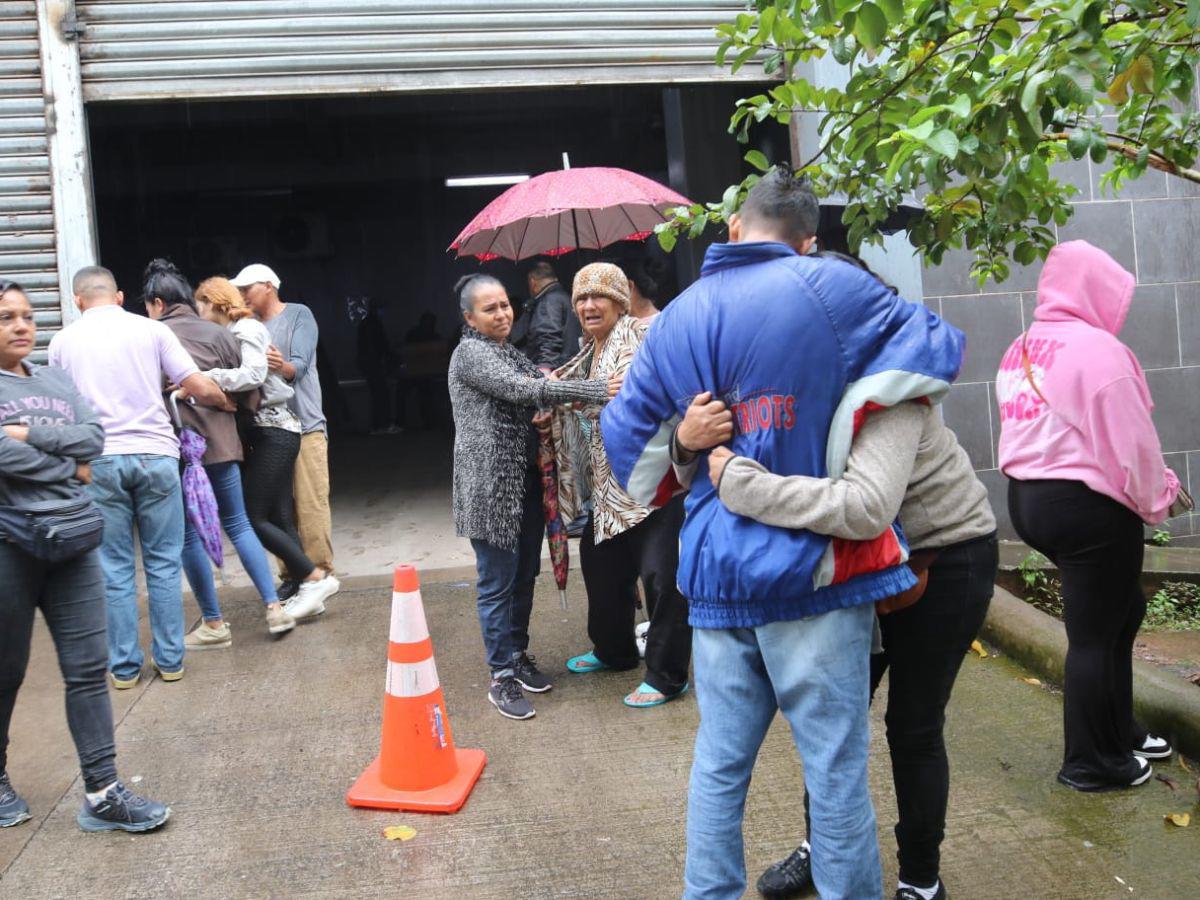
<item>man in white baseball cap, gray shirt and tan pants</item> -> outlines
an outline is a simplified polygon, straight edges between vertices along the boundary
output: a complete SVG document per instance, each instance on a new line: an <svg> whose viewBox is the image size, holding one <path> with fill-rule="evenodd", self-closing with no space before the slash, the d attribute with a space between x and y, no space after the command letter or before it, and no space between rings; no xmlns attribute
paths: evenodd
<svg viewBox="0 0 1200 900"><path fill-rule="evenodd" d="M300 419L300 455L296 457L292 487L295 497L296 530L305 556L332 575L334 524L329 509L329 438L317 377L317 319L300 304L280 299L280 276L269 265L253 263L232 280L241 290L246 305L271 335L266 365L294 389L288 401ZM286 572L281 599L294 593L305 572ZM336 583L336 582L335 582ZM300 594L284 607L296 619L318 616L323 602L302 604Z"/></svg>

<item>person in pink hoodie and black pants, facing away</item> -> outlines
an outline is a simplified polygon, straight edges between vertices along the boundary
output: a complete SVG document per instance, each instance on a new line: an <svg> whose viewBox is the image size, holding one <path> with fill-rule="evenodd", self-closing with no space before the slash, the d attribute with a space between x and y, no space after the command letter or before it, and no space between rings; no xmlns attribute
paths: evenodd
<svg viewBox="0 0 1200 900"><path fill-rule="evenodd" d="M1062 574L1058 780L1076 791L1144 784L1147 758L1171 755L1133 718L1133 642L1146 613L1142 523L1165 520L1181 497L1141 366L1116 337L1133 289L1134 277L1104 251L1060 244L1038 281L1033 325L996 378L1013 526Z"/></svg>

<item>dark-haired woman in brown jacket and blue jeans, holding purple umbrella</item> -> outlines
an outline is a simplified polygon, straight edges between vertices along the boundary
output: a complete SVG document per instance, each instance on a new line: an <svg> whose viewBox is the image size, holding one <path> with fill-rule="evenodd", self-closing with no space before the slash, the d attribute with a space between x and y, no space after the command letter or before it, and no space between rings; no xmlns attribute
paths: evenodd
<svg viewBox="0 0 1200 900"><path fill-rule="evenodd" d="M174 264L166 259L151 260L143 275L142 295L150 318L158 319L169 328L202 370L236 368L241 364L238 338L228 329L200 318L192 286ZM251 394L257 398L257 390L238 396L245 398ZM238 437L234 414L224 409L180 403L179 415L184 427L191 428L208 442L204 470L212 482L221 528L229 536L238 558L266 606L268 629L271 634L290 631L295 628L295 620L290 613L284 612L280 602L266 551L246 516L241 470L238 466L242 460L241 439ZM212 565L191 518L184 524L184 572L203 616L200 624L184 638L184 646L188 650L229 647L233 635L221 614Z"/></svg>

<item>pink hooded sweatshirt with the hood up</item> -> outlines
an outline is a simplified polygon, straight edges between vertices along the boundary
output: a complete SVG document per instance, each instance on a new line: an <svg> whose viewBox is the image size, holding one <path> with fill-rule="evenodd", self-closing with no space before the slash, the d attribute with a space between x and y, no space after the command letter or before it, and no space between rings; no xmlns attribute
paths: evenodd
<svg viewBox="0 0 1200 900"><path fill-rule="evenodd" d="M1082 481L1157 524L1180 481L1163 462L1141 366L1116 338L1133 287L1134 277L1087 241L1050 251L1026 334L1045 400L1030 386L1018 337L996 377L1000 468L1025 481Z"/></svg>

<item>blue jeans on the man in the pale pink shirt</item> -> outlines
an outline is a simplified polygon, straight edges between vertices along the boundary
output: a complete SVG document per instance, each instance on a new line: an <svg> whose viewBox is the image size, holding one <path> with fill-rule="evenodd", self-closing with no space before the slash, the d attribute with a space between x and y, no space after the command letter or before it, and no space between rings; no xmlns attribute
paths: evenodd
<svg viewBox="0 0 1200 900"><path fill-rule="evenodd" d="M150 654L164 672L184 666L184 492L179 460L125 454L91 464L92 499L104 517L100 564L108 596L108 667L133 678L145 655L138 646L138 590L133 528L137 526L150 595Z"/></svg>

